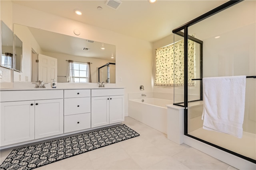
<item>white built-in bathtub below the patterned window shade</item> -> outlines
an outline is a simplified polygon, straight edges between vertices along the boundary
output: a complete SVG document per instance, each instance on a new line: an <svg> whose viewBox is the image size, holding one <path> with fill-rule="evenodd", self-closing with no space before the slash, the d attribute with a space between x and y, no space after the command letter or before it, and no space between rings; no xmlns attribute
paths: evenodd
<svg viewBox="0 0 256 170"><path fill-rule="evenodd" d="M128 114L130 117L167 134L167 107L173 104L172 100L158 98L144 98L128 101Z"/></svg>

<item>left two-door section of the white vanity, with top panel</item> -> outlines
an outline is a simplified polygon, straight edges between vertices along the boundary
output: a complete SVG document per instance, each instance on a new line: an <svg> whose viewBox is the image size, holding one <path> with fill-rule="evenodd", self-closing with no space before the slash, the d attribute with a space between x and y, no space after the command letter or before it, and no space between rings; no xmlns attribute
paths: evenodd
<svg viewBox="0 0 256 170"><path fill-rule="evenodd" d="M63 90L1 91L0 146L63 133Z"/></svg>

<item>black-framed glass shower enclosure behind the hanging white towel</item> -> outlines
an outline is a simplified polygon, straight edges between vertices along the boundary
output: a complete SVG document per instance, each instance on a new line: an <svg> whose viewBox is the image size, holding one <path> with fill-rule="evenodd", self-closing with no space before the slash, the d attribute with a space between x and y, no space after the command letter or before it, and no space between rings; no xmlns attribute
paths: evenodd
<svg viewBox="0 0 256 170"><path fill-rule="evenodd" d="M184 86L174 87L174 104L184 107L184 134L253 163L256 163L255 8L255 1L229 1L173 30L174 42L184 39ZM242 138L203 129L202 78L240 75L248 77Z"/></svg>

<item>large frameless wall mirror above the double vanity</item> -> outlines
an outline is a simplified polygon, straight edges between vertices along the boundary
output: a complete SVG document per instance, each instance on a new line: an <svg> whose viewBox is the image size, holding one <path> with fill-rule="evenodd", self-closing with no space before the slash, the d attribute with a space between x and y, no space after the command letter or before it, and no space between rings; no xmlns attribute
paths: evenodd
<svg viewBox="0 0 256 170"><path fill-rule="evenodd" d="M116 63L115 45L15 23L14 33L22 41L22 76L27 82L97 83L98 68ZM113 79L115 83L115 73Z"/></svg>

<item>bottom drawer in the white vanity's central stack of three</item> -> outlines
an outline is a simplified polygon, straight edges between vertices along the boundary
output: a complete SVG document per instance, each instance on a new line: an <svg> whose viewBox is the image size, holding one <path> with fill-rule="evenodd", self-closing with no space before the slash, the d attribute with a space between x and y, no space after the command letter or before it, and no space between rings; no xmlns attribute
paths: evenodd
<svg viewBox="0 0 256 170"><path fill-rule="evenodd" d="M91 128L91 113L64 116L64 133Z"/></svg>

